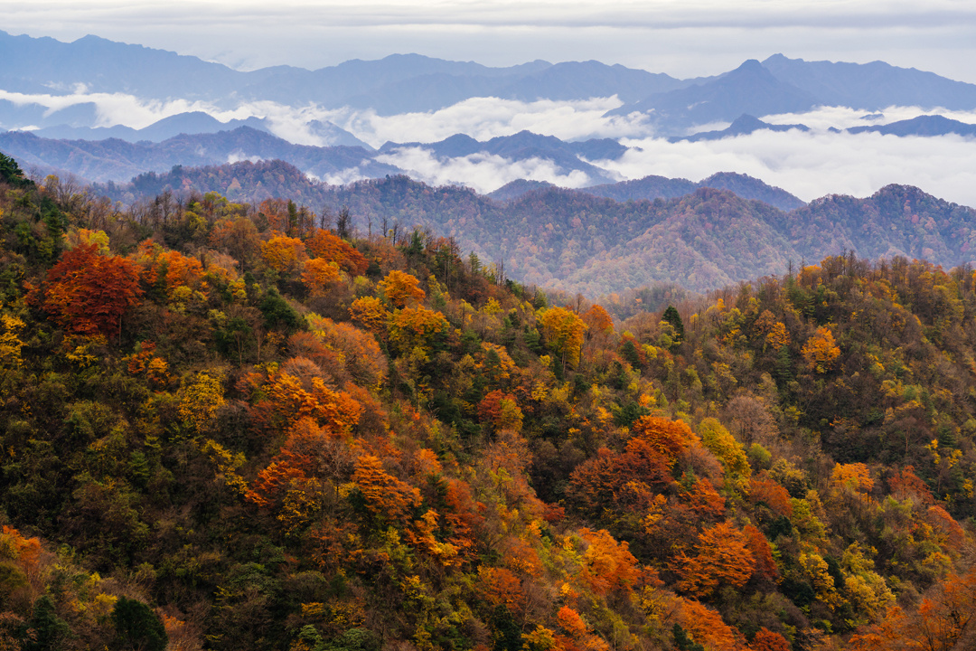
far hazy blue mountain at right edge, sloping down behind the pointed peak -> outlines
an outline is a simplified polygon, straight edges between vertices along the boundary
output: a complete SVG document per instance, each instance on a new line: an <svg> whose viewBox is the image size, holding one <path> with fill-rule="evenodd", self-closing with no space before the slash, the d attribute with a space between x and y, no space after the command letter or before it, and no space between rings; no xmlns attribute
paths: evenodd
<svg viewBox="0 0 976 651"><path fill-rule="evenodd" d="M868 110L892 105L976 107L976 84L953 81L915 68L896 67L884 61L803 61L778 54L762 61L762 65L777 79L802 89L827 106Z"/></svg>

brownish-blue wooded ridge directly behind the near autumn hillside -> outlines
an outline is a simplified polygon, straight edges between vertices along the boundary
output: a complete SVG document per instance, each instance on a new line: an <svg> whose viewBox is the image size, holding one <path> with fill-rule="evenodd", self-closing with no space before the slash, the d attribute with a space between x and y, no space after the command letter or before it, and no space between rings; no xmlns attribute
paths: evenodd
<svg viewBox="0 0 976 651"><path fill-rule="evenodd" d="M620 184L631 195L625 201L533 182L510 184L519 192L499 200L402 175L327 185L281 162L244 161L147 174L132 186L101 189L112 198L135 200L195 186L235 201L292 197L333 214L347 207L363 231L377 232L381 224L396 224L400 232L427 227L435 235L454 236L483 260L504 261L514 279L590 296L657 283L707 291L844 251L947 267L976 262L976 210L912 186L888 185L866 198L830 195L787 212L715 187L777 189L745 175L642 182ZM632 199L638 188L650 187L690 191Z"/></svg>

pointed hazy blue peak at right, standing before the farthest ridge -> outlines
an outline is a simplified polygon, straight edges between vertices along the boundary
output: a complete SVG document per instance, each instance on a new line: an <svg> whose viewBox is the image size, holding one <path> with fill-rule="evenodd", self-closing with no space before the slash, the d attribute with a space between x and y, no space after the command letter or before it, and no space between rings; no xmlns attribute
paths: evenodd
<svg viewBox="0 0 976 651"><path fill-rule="evenodd" d="M663 133L679 135L688 127L731 122L743 113L768 115L805 111L820 103L812 94L777 79L751 59L711 81L625 104L609 113L648 112Z"/></svg>

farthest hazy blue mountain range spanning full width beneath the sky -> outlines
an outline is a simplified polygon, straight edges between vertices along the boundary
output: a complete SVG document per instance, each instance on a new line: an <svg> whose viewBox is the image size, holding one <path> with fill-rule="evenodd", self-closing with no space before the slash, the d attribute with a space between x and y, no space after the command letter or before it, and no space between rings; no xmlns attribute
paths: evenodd
<svg viewBox="0 0 976 651"><path fill-rule="evenodd" d="M814 106L976 108L976 85L931 72L882 61L803 61L782 54L745 61L712 77L684 80L599 61L490 67L420 55L346 61L317 70L282 65L242 72L97 36L61 43L0 31L0 61L5 63L0 89L7 91L66 96L82 89L145 101L180 98L223 109L278 102L393 115L434 111L472 98L565 102L616 96L623 105L612 114L642 113L663 136L684 136L696 125L731 122L744 113L762 117ZM8 130L97 124L94 104L52 110L40 103L0 100L0 128Z"/></svg>

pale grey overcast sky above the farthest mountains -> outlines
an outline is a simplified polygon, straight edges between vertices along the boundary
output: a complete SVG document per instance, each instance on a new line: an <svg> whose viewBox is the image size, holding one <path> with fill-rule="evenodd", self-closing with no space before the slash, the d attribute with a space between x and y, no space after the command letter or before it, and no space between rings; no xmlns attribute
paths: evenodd
<svg viewBox="0 0 976 651"><path fill-rule="evenodd" d="M240 69L419 53L489 65L594 59L690 77L781 52L976 83L972 0L0 0L0 29L96 34Z"/></svg>

